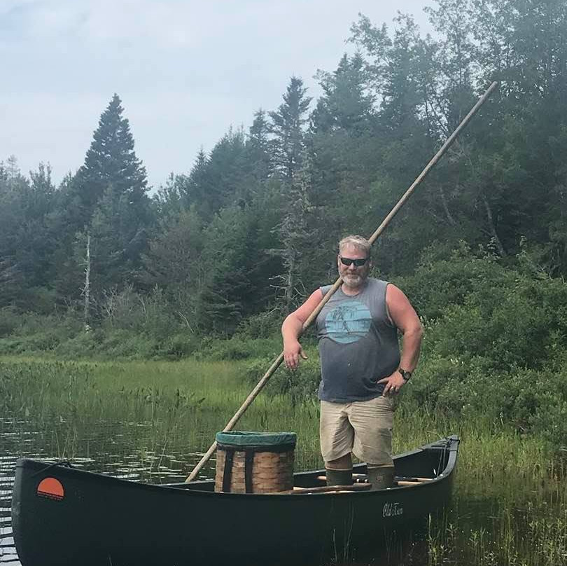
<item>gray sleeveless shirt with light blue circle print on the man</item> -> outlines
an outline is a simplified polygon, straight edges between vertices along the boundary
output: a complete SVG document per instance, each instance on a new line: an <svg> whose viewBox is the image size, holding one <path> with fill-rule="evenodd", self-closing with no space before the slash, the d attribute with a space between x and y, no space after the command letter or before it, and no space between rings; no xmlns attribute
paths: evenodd
<svg viewBox="0 0 567 566"><path fill-rule="evenodd" d="M323 295L330 285L321 287ZM332 403L380 396L377 380L400 365L398 329L386 309L388 282L369 278L356 296L338 291L316 319L321 357L319 399Z"/></svg>

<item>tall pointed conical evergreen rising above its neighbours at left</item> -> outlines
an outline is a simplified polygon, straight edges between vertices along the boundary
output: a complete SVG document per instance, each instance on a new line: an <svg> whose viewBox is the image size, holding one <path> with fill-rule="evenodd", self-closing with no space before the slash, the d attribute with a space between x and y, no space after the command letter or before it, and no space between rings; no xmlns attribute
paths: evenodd
<svg viewBox="0 0 567 566"><path fill-rule="evenodd" d="M92 288L100 292L136 282L153 219L146 170L118 95L102 113L85 163L62 191L55 224L63 228L59 256L66 277L59 293L77 298L82 287L83 240L91 237ZM77 234L81 234L77 237Z"/></svg>

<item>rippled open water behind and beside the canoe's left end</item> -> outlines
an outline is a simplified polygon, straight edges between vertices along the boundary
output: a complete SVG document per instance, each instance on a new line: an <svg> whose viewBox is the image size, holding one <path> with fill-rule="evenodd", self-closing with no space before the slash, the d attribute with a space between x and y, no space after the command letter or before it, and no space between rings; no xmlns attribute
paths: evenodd
<svg viewBox="0 0 567 566"><path fill-rule="evenodd" d="M159 450L155 432L148 423L106 422L92 424L73 439L64 431L64 422L34 429L29 421L0 419L0 565L18 566L11 526L11 499L15 463L18 457L32 457L45 462L69 459L73 467L97 471L118 478L148 483L175 483L186 479L203 453L169 448ZM69 454L69 448L73 454ZM200 479L214 477L214 457L200 474ZM158 566L158 565L156 565Z"/></svg>

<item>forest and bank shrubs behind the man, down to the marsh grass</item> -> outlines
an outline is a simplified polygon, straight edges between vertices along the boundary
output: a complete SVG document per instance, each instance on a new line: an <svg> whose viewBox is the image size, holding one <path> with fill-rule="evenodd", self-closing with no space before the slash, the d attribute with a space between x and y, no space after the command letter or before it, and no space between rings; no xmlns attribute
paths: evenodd
<svg viewBox="0 0 567 566"><path fill-rule="evenodd" d="M471 383L496 380L495 415L564 438L567 2L426 11L433 35L411 15L389 26L360 15L349 52L318 71L317 99L290 77L278 108L228 127L157 191L118 94L59 186L45 163L25 174L17 156L3 161L0 352L258 353L335 280L337 241L370 235L498 81L374 245L374 275L398 284L426 327L416 399L445 387L461 410Z"/></svg>

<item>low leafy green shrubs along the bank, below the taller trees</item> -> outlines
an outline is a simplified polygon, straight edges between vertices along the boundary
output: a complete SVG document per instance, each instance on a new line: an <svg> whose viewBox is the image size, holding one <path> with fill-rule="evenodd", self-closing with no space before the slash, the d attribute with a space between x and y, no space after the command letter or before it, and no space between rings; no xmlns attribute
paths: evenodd
<svg viewBox="0 0 567 566"><path fill-rule="evenodd" d="M505 425L521 437L544 439L564 455L563 279L538 272L526 256L512 268L463 244L430 249L413 275L393 282L411 298L425 328L418 371L404 389L407 410ZM118 298L120 308L88 331L72 310L38 315L3 308L0 356L131 360L140 366L146 360L241 362L241 378L251 387L281 352L281 309L248 317L230 336L204 335L184 328L159 298L149 304L132 289ZM318 387L312 329L302 341L309 359L295 373L280 368L267 385L269 394L286 394L293 404L314 400Z"/></svg>

